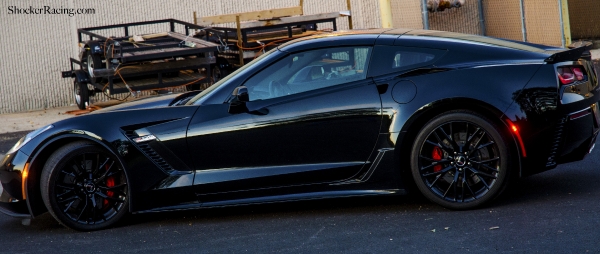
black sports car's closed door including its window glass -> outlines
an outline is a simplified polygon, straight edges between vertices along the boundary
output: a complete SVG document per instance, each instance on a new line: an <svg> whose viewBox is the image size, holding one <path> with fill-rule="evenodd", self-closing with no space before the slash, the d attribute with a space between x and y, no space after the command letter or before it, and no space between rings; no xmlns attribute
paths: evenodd
<svg viewBox="0 0 600 254"><path fill-rule="evenodd" d="M341 181L377 141L381 100L366 78L372 48L289 54L251 76L247 110L201 106L188 128L199 193Z"/></svg>

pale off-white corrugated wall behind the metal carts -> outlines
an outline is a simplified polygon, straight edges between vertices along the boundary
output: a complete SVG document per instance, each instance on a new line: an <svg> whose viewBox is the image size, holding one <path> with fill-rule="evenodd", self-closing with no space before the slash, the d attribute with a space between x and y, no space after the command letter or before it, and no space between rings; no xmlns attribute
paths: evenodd
<svg viewBox="0 0 600 254"><path fill-rule="evenodd" d="M175 18L193 22L199 17L235 12L297 6L299 0L2 0L0 15L0 114L61 107L73 104L72 79L61 78L68 70L69 57L77 58L76 29ZM380 27L379 7L373 0L352 0L355 28ZM375 3L375 4L374 4ZM18 8L93 8L90 15L7 14L9 6ZM304 0L304 13L316 14L346 10L346 0ZM345 18L339 29L348 29ZM159 32L164 27L133 29L131 34ZM121 35L109 31L105 35ZM104 100L103 95L92 98Z"/></svg>

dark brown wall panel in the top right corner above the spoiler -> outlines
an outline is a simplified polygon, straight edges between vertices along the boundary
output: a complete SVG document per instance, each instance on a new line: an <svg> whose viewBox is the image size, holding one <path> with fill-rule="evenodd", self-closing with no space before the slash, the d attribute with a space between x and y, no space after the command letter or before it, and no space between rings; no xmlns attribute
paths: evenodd
<svg viewBox="0 0 600 254"><path fill-rule="evenodd" d="M571 38L600 38L600 1L569 0Z"/></svg>

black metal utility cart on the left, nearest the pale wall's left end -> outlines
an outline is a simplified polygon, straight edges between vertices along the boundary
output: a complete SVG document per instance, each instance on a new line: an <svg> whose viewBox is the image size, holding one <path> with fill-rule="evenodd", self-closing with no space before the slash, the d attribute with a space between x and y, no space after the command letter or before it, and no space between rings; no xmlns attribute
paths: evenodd
<svg viewBox="0 0 600 254"><path fill-rule="evenodd" d="M157 24L167 24L169 31L130 34L131 27ZM123 34L105 37L95 33L108 29ZM78 29L79 59L70 59L71 70L62 72L62 77L73 78L73 95L80 109L89 106L89 98L96 92L111 96L183 85L197 88L203 80L211 82L201 70L210 73L219 45L194 38L191 29L204 27L164 19Z"/></svg>

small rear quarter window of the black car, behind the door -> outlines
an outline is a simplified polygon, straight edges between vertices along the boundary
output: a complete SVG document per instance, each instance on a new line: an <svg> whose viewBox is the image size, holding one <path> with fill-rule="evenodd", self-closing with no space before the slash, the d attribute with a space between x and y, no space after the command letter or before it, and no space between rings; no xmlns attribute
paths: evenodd
<svg viewBox="0 0 600 254"><path fill-rule="evenodd" d="M394 72L428 66L438 61L445 50L400 46L375 46L369 67L369 76L375 77Z"/></svg>

